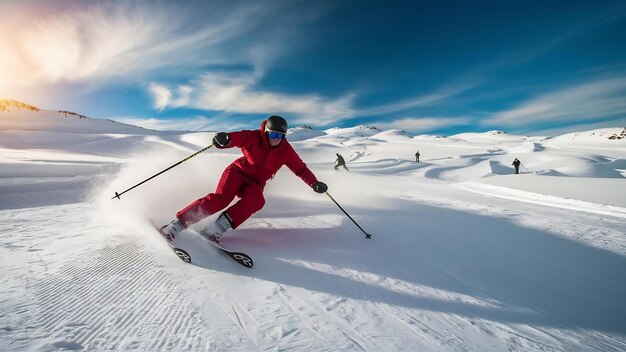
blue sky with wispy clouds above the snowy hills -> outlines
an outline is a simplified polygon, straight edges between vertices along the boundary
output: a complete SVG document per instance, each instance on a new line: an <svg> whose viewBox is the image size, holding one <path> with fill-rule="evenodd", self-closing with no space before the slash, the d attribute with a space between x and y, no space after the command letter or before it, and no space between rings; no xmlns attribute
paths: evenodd
<svg viewBox="0 0 626 352"><path fill-rule="evenodd" d="M624 1L3 1L0 98L157 129L626 126ZM5 20L6 19L6 20Z"/></svg>

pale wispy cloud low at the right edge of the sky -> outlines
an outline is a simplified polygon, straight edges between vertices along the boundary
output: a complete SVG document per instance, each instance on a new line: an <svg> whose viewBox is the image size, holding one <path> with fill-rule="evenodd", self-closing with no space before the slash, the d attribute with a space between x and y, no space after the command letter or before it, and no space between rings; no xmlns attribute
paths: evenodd
<svg viewBox="0 0 626 352"><path fill-rule="evenodd" d="M626 114L626 77L582 83L494 114L486 125L518 127L538 122L582 122Z"/></svg>

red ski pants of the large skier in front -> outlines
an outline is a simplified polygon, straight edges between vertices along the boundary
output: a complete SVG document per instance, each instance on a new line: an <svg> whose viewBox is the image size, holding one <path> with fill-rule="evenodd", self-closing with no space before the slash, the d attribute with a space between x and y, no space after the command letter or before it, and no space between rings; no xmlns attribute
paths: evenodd
<svg viewBox="0 0 626 352"><path fill-rule="evenodd" d="M252 214L263 208L263 186L250 182L234 166L228 166L222 173L215 193L209 193L204 198L186 206L176 214L183 226L188 227L205 217L215 214L226 208L238 196L239 201L226 210L232 220L233 229L241 225Z"/></svg>

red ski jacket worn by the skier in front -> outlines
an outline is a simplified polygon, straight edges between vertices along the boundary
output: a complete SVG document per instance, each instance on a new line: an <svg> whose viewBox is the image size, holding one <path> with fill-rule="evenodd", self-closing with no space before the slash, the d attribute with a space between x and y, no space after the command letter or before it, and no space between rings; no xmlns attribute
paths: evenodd
<svg viewBox="0 0 626 352"><path fill-rule="evenodd" d="M289 170L300 177L307 185L312 186L317 178L300 159L286 138L280 144L272 147L265 135L265 120L261 129L228 133L230 144L225 148L241 148L243 156L235 160L234 166L250 182L265 186L267 180L274 177L276 172L287 165Z"/></svg>

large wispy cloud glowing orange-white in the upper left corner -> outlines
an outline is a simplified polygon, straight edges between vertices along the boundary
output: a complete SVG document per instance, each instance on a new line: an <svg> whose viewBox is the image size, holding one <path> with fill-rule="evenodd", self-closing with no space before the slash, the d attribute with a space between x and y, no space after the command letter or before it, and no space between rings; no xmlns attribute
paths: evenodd
<svg viewBox="0 0 626 352"><path fill-rule="evenodd" d="M264 18L252 3L220 5L202 16L168 3L59 4L45 13L32 6L3 16L0 76L21 84L119 81L162 68L237 63L246 54L211 49L249 33Z"/></svg>

